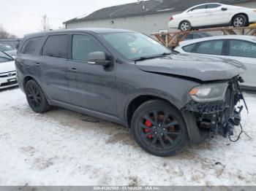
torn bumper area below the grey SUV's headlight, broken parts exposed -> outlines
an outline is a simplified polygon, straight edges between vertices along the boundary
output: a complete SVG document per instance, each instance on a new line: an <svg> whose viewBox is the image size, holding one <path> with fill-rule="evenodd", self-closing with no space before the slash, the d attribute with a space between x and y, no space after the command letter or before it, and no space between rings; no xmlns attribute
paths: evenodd
<svg viewBox="0 0 256 191"><path fill-rule="evenodd" d="M238 102L244 99L238 81L241 78L230 80L225 99L207 103L190 101L182 112L190 112L195 116L195 122L199 130L208 130L220 133L222 136L232 136L233 130L241 122L243 106Z"/></svg>

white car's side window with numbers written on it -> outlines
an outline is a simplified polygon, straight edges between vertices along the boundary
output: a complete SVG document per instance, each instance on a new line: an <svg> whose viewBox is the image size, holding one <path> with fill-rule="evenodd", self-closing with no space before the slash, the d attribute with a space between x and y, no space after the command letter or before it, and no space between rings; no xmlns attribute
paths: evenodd
<svg viewBox="0 0 256 191"><path fill-rule="evenodd" d="M227 55L256 58L256 44L241 40L230 40L230 48Z"/></svg>

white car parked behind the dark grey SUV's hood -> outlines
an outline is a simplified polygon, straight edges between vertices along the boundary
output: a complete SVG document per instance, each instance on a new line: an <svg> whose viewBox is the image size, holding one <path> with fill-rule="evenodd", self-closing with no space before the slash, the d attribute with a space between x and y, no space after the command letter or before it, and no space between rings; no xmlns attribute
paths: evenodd
<svg viewBox="0 0 256 191"><path fill-rule="evenodd" d="M189 55L209 55L217 58L233 59L244 63L242 74L244 89L256 90L256 36L230 35L211 36L180 42L176 52Z"/></svg>

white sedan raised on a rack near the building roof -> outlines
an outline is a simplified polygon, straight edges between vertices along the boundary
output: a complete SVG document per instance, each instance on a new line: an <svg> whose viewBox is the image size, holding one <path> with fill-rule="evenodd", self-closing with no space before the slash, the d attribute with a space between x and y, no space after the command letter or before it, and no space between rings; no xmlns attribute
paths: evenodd
<svg viewBox="0 0 256 191"><path fill-rule="evenodd" d="M256 9L227 4L199 4L170 17L169 28L190 31L212 26L249 26L256 22Z"/></svg>

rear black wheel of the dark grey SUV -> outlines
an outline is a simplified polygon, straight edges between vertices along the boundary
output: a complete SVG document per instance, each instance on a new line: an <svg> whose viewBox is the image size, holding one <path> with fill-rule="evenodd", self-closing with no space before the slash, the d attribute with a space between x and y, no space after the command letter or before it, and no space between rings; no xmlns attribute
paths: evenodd
<svg viewBox="0 0 256 191"><path fill-rule="evenodd" d="M43 113L50 109L50 105L48 104L41 87L39 87L34 79L26 82L25 93L29 106L34 112Z"/></svg>

